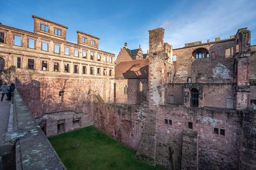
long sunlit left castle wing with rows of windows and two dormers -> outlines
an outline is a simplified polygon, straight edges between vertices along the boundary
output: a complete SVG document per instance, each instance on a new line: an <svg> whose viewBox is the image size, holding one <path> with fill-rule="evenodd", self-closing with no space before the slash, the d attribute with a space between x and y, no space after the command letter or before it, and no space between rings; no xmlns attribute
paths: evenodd
<svg viewBox="0 0 256 170"><path fill-rule="evenodd" d="M95 36L77 31L70 43L66 26L32 17L34 33L0 25L0 83L16 83L47 136L92 125L93 96L114 100L115 55Z"/></svg>

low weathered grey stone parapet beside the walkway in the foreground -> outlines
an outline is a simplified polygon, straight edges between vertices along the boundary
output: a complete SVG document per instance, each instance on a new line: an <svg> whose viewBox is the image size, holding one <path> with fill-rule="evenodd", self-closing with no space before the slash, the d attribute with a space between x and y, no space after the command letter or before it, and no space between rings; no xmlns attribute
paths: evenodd
<svg viewBox="0 0 256 170"><path fill-rule="evenodd" d="M17 90L13 113L13 130L0 146L2 169L66 169Z"/></svg>

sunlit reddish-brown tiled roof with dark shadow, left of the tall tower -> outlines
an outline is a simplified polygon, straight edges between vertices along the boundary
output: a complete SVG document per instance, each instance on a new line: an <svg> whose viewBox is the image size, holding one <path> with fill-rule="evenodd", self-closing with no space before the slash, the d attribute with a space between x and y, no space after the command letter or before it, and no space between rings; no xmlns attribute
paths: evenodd
<svg viewBox="0 0 256 170"><path fill-rule="evenodd" d="M148 78L148 59L123 61L115 67L115 79Z"/></svg>

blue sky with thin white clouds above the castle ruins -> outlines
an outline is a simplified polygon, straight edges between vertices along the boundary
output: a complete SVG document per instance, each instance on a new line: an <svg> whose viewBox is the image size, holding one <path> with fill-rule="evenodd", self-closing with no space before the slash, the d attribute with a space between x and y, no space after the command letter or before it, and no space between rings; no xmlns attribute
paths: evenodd
<svg viewBox="0 0 256 170"><path fill-rule="evenodd" d="M77 43L76 31L100 38L99 49L118 56L127 42L148 50L148 30L162 27L164 42L222 40L239 28L251 31L256 45L256 1L1 1L0 22L33 32L32 15L67 26L67 41Z"/></svg>

